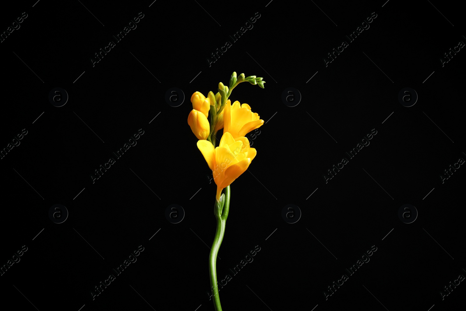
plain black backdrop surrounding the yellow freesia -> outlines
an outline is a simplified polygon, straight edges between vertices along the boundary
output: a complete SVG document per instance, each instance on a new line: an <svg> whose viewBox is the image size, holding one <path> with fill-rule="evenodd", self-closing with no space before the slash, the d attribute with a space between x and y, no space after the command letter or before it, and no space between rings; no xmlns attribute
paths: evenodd
<svg viewBox="0 0 466 311"><path fill-rule="evenodd" d="M444 300L440 295L466 275L466 169L440 178L466 159L466 52L443 67L439 60L466 42L459 7L395 0L81 2L2 5L1 32L27 13L0 43L0 147L27 130L0 160L0 265L27 247L0 276L2 304L213 310L207 260L216 186L187 117L192 93L216 93L233 71L267 82L265 89L242 83L230 97L267 124L254 139L254 132L247 136L257 156L231 186L217 260L219 280L233 276L219 292L223 310L434 311L464 304L464 282ZM137 28L93 66L94 54L139 12ZM231 40L256 12L254 28ZM370 28L348 42L345 35L372 12ZM349 46L326 67L323 58L343 40ZM225 41L232 46L209 66L207 57ZM62 107L48 100L55 87L69 95ZM178 107L164 99L171 87L184 93ZM301 93L295 107L281 100L288 87ZM397 99L405 87L418 94L411 107ZM93 183L94 170L139 129L137 145ZM326 183L327 170L372 129L370 145ZM65 222L48 217L54 204L67 208ZM185 211L177 224L165 218L171 204ZM287 204L302 212L294 224L281 217ZM418 211L410 224L397 215L404 204ZM139 245L137 262L93 300L94 287ZM256 245L254 261L233 275L229 269ZM372 246L370 262L326 300L327 287Z"/></svg>

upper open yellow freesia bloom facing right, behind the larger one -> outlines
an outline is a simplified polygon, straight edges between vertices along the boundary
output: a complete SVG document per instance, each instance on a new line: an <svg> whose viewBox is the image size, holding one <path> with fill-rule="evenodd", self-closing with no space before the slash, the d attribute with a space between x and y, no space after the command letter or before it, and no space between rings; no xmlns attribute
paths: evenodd
<svg viewBox="0 0 466 311"><path fill-rule="evenodd" d="M259 115L251 111L248 104L240 105L239 101L235 101L230 105L230 101L226 102L223 109L223 131L229 132L233 137L246 136L252 130L259 128L264 124Z"/></svg>

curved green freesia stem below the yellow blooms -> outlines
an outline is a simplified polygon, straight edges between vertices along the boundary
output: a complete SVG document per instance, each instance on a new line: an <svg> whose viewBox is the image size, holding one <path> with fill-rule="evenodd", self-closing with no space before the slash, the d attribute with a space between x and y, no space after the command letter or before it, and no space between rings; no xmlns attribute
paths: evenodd
<svg viewBox="0 0 466 311"><path fill-rule="evenodd" d="M218 204L215 204L214 214L217 219L217 230L215 232L215 238L212 243L212 249L209 256L209 274L210 274L210 285L212 288L213 305L215 311L222 311L220 305L219 288L217 286L217 254L219 253L220 244L225 234L226 218L228 217L228 211L230 208L230 186L225 188L225 204L223 209L220 210Z"/></svg>

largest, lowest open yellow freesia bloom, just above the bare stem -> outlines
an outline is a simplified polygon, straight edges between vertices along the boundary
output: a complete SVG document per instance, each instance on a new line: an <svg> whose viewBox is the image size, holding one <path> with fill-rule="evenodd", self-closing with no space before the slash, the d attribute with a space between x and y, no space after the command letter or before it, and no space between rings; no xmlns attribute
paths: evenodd
<svg viewBox="0 0 466 311"><path fill-rule="evenodd" d="M217 200L220 200L223 188L246 172L256 156L256 150L249 147L249 140L246 137L233 138L229 132L223 133L219 146L215 149L207 140L199 140L198 148L212 170L217 184Z"/></svg>

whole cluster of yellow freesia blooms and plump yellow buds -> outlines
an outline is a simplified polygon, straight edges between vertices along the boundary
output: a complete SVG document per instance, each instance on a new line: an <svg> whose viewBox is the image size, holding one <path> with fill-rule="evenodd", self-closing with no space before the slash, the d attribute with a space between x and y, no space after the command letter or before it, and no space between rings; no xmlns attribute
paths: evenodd
<svg viewBox="0 0 466 311"><path fill-rule="evenodd" d="M213 96L211 96L213 99ZM207 165L213 171L217 184L217 200L220 200L222 190L244 173L256 155L256 150L249 147L249 140L245 137L262 124L259 115L251 111L248 104L226 101L224 109L217 115L213 126L213 133L223 128L223 135L218 147L206 140L210 136L211 124L207 120L210 106L219 110L220 93L215 95L216 103L200 92L191 96L192 111L188 116L188 124L192 132L199 139L197 145L206 159ZM218 107L218 108L217 108Z"/></svg>

